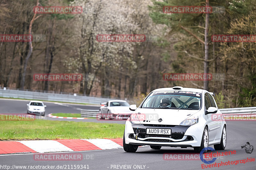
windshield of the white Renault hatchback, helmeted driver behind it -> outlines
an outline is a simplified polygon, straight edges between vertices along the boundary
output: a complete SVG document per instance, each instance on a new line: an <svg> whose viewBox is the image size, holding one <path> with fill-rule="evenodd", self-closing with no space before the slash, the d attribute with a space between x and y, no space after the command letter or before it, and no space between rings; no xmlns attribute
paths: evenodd
<svg viewBox="0 0 256 170"><path fill-rule="evenodd" d="M201 93L196 92L152 92L143 103L142 108L199 110L201 106L201 96Z"/></svg>

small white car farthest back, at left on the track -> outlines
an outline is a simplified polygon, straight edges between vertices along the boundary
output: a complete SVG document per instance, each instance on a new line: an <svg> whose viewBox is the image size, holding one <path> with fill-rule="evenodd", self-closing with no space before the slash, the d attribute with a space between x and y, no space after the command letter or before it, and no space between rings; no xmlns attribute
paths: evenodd
<svg viewBox="0 0 256 170"><path fill-rule="evenodd" d="M36 114L36 115L45 115L45 107L44 103L42 101L38 100L31 100L27 104L27 114Z"/></svg>

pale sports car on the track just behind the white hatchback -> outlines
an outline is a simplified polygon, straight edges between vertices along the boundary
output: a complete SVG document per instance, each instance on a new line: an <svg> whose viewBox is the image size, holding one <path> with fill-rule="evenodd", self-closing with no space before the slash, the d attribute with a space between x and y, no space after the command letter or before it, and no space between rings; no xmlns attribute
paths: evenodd
<svg viewBox="0 0 256 170"><path fill-rule="evenodd" d="M101 103L99 117L101 119L127 119L132 114L129 106L125 100L109 100Z"/></svg>

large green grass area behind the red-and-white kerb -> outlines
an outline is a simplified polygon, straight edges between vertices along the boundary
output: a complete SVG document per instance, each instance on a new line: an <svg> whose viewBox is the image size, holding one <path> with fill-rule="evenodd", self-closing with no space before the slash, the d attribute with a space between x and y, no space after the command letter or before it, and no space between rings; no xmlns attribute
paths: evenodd
<svg viewBox="0 0 256 170"><path fill-rule="evenodd" d="M0 140L121 138L124 125L67 121L1 121Z"/></svg>

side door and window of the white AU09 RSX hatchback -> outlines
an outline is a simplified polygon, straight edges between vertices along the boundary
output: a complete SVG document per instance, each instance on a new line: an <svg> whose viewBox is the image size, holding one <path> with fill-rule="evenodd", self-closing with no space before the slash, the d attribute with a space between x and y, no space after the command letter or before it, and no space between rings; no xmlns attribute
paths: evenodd
<svg viewBox="0 0 256 170"><path fill-rule="evenodd" d="M208 94L204 93L204 108L207 110L209 107L212 107L211 100ZM209 142L211 142L215 139L217 134L218 122L216 120L212 120L212 114L207 114L205 117L208 124Z"/></svg>

